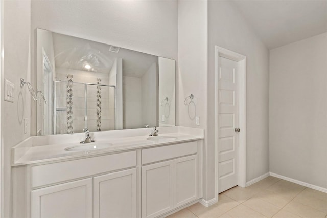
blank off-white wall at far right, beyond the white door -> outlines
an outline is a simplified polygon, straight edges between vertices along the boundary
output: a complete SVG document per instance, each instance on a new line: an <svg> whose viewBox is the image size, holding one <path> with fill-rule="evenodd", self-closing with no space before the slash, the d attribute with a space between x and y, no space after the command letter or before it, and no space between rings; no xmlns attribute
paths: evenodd
<svg viewBox="0 0 327 218"><path fill-rule="evenodd" d="M327 188L327 33L270 50L270 171Z"/></svg>

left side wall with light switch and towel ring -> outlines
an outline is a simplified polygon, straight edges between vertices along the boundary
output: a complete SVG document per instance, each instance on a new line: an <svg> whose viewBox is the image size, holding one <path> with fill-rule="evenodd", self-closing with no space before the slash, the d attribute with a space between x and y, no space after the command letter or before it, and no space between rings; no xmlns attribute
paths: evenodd
<svg viewBox="0 0 327 218"><path fill-rule="evenodd" d="M20 88L20 78L31 80L30 69L30 1L4 1L4 77L15 84L14 103L3 103L4 149L4 217L12 217L12 187L10 149L30 136L24 134L24 118L31 122L31 95L26 86ZM35 87L35 86L34 86ZM1 92L3 94L3 92ZM34 103L34 102L33 102Z"/></svg>

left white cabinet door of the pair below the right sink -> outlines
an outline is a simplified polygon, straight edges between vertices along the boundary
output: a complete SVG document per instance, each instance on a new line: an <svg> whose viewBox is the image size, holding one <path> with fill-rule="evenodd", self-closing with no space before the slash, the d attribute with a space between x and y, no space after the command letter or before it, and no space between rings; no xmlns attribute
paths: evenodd
<svg viewBox="0 0 327 218"><path fill-rule="evenodd" d="M156 217L173 209L173 161L142 167L142 217Z"/></svg>

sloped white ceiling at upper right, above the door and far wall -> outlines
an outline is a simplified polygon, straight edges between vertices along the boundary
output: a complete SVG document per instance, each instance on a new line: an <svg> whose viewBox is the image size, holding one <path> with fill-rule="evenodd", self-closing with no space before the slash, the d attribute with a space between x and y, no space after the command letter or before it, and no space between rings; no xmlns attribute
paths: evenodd
<svg viewBox="0 0 327 218"><path fill-rule="evenodd" d="M233 0L268 49L327 32L327 0Z"/></svg>

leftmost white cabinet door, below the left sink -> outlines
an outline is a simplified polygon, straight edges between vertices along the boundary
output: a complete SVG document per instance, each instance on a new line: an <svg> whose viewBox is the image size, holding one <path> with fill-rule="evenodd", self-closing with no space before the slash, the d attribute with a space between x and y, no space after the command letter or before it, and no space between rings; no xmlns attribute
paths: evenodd
<svg viewBox="0 0 327 218"><path fill-rule="evenodd" d="M32 217L92 217L92 178L32 191Z"/></svg>

